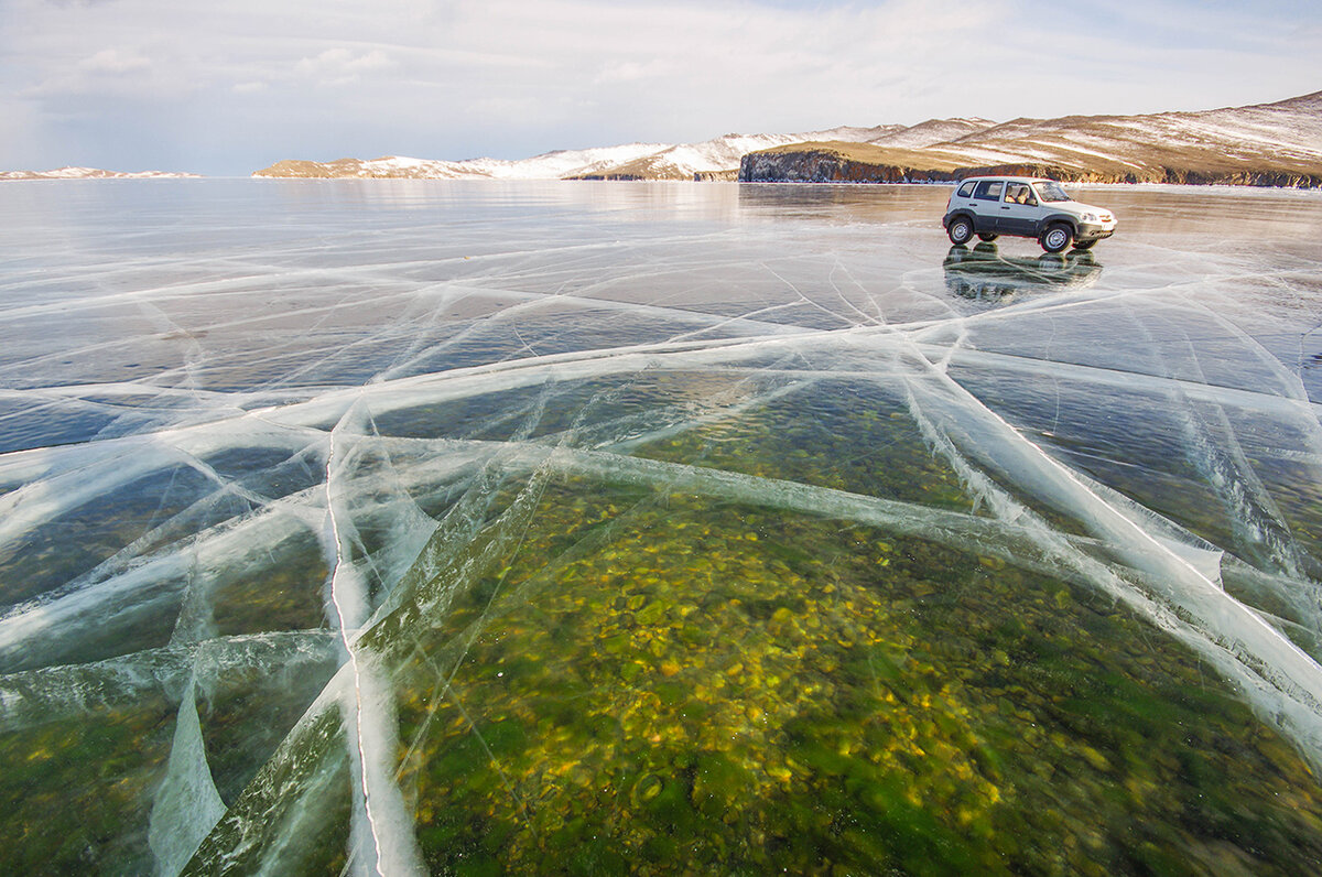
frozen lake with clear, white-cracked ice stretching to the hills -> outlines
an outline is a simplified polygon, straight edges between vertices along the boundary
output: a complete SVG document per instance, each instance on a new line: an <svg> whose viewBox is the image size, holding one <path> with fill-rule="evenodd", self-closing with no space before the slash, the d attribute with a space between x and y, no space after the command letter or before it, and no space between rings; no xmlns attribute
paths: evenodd
<svg viewBox="0 0 1322 877"><path fill-rule="evenodd" d="M1077 192L4 184L4 870L1322 870L1322 194Z"/></svg>

